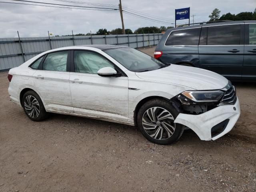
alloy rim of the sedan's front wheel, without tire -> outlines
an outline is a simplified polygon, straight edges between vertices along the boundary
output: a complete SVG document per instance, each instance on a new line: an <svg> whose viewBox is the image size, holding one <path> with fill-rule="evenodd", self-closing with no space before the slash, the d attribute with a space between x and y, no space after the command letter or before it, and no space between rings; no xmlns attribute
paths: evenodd
<svg viewBox="0 0 256 192"><path fill-rule="evenodd" d="M175 131L172 114L161 107L146 110L142 116L142 126L150 137L157 140L168 139Z"/></svg>

